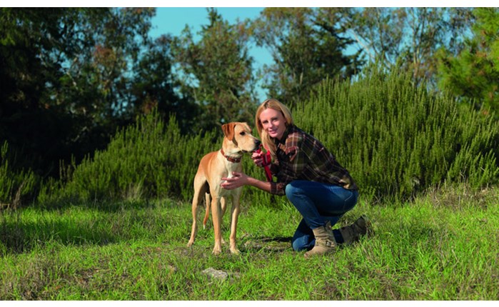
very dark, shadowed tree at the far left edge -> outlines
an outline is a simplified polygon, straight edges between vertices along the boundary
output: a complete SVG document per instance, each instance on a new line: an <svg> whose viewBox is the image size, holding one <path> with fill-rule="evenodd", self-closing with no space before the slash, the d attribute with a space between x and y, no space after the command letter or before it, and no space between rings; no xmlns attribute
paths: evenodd
<svg viewBox="0 0 499 307"><path fill-rule="evenodd" d="M90 11L90 10L89 10ZM84 10L3 8L0 14L0 139L24 151L36 171L55 171L76 134L72 116L54 104L63 57L86 40L72 39ZM97 14L99 11L93 11ZM64 24L64 26L62 26Z"/></svg>

